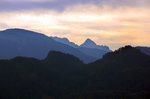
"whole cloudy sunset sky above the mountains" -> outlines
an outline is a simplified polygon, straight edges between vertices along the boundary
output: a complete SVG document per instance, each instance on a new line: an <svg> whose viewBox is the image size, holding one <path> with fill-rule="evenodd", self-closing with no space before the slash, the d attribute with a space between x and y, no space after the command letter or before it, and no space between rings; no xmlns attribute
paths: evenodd
<svg viewBox="0 0 150 99"><path fill-rule="evenodd" d="M112 50L150 46L150 0L0 0L0 30L8 28L78 45L90 38Z"/></svg>

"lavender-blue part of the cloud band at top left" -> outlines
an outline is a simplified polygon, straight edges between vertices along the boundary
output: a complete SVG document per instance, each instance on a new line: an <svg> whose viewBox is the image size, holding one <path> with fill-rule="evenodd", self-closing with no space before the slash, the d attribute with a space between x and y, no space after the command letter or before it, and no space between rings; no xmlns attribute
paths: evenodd
<svg viewBox="0 0 150 99"><path fill-rule="evenodd" d="M47 9L64 11L68 6L99 3L101 0L0 0L0 11Z"/></svg>

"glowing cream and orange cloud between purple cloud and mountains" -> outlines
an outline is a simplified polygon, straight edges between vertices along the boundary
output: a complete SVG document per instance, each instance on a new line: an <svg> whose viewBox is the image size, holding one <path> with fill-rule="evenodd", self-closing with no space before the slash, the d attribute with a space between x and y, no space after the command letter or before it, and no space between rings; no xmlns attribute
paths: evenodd
<svg viewBox="0 0 150 99"><path fill-rule="evenodd" d="M63 12L35 10L0 13L0 29L24 28L48 36L68 37L81 44L92 38L112 49L126 44L150 46L150 10L147 7L76 5Z"/></svg>

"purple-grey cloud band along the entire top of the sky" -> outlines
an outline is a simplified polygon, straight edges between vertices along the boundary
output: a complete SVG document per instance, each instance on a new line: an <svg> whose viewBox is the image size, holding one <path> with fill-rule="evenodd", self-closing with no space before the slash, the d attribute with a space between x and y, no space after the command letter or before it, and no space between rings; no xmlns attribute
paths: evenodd
<svg viewBox="0 0 150 99"><path fill-rule="evenodd" d="M0 11L22 11L35 9L64 11L70 6L79 4L94 4L99 7L108 5L113 8L120 8L123 6L149 7L150 0L0 0Z"/></svg>

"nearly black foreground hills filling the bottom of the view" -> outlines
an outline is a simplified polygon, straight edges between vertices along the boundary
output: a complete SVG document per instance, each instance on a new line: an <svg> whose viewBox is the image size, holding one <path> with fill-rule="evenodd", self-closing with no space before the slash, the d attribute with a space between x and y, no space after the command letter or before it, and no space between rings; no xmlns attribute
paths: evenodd
<svg viewBox="0 0 150 99"><path fill-rule="evenodd" d="M1 99L149 99L150 56L125 46L84 64L51 51L0 60Z"/></svg>

